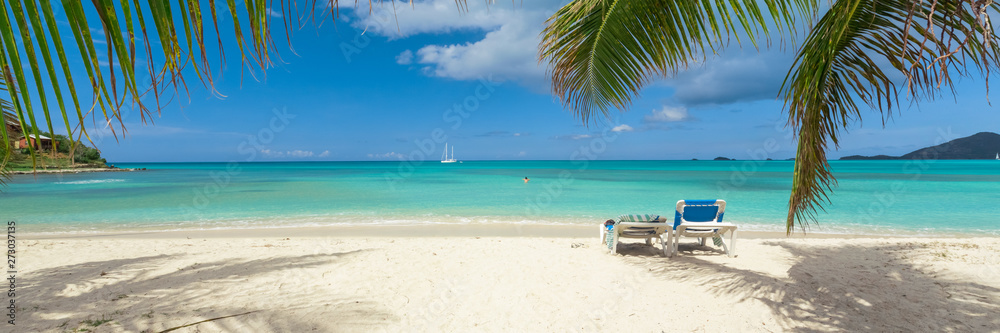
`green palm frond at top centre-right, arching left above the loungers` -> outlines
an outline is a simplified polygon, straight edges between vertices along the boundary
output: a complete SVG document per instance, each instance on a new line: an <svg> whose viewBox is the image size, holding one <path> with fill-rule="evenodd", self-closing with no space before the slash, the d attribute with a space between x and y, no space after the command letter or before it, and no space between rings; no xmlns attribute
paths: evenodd
<svg viewBox="0 0 1000 333"><path fill-rule="evenodd" d="M542 31L539 60L548 61L552 90L584 123L610 108L624 110L651 80L672 75L730 37L754 47L811 19L818 0L689 1L577 0L559 9ZM789 34L791 35L791 34Z"/></svg>

